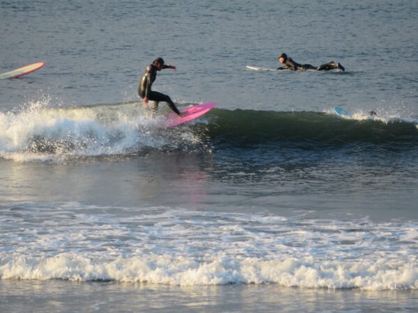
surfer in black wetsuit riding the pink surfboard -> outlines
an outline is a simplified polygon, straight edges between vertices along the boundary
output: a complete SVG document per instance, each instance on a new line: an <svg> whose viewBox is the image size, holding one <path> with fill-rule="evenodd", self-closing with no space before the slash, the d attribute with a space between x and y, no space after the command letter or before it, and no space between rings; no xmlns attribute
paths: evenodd
<svg viewBox="0 0 418 313"><path fill-rule="evenodd" d="M151 86L153 86L153 82L155 81L155 78L157 78L157 71L164 70L164 68L176 70L175 66L164 64L164 60L162 58L156 58L153 61L153 64L146 67L146 70L141 77L141 81L139 82L138 95L141 97L142 103L145 106L148 105L149 100L154 102L152 107L153 113L157 113L159 102L167 102L170 109L181 117L183 114L178 111L176 104L174 104L173 100L171 100L168 95L151 90Z"/></svg>

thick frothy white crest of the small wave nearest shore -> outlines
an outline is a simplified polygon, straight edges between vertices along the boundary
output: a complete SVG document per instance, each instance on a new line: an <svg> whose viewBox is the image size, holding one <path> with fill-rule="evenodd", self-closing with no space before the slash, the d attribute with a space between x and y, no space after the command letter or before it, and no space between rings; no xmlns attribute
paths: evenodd
<svg viewBox="0 0 418 313"><path fill-rule="evenodd" d="M365 290L418 289L415 262L317 261L287 258L190 257L142 255L114 260L60 254L55 257L8 257L0 260L1 279L75 281L115 280L154 284L263 284L285 287L359 288Z"/></svg>

